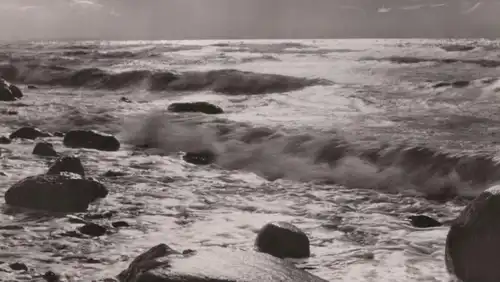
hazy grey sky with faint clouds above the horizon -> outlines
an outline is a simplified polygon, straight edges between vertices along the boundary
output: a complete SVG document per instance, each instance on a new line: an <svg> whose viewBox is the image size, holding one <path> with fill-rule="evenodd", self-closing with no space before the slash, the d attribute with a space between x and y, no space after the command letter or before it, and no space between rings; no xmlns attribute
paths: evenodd
<svg viewBox="0 0 500 282"><path fill-rule="evenodd" d="M0 0L0 40L500 38L500 0Z"/></svg>

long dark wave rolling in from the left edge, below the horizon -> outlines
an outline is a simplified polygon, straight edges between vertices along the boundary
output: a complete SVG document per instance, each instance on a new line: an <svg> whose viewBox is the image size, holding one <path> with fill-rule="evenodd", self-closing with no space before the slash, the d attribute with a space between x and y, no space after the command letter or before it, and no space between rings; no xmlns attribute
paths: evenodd
<svg viewBox="0 0 500 282"><path fill-rule="evenodd" d="M155 72L133 70L110 73L99 68L75 70L57 65L8 64L0 66L5 79L25 84L117 90L129 87L151 91L212 90L223 94L288 92L313 85L328 85L324 79L254 73L235 69L203 72Z"/></svg>

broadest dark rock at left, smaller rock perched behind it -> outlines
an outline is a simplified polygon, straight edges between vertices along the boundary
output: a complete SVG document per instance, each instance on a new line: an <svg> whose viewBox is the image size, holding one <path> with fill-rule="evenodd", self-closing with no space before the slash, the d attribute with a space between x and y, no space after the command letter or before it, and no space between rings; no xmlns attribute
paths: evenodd
<svg viewBox="0 0 500 282"><path fill-rule="evenodd" d="M49 212L84 212L90 203L108 195L108 189L92 178L74 173L27 177L5 193L5 203Z"/></svg>

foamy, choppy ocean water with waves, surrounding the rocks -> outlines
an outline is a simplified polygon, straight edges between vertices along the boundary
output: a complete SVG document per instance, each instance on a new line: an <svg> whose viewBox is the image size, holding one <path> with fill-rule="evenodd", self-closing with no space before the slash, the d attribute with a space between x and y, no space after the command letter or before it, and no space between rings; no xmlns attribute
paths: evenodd
<svg viewBox="0 0 500 282"><path fill-rule="evenodd" d="M109 187L91 212L130 223L68 238L67 218L14 213L2 200L0 261L31 268L0 264L2 281L47 270L113 277L157 243L251 249L270 221L309 235L312 257L297 263L329 281L448 281L448 227L414 228L407 216L449 221L500 179L500 41L26 42L0 46L0 60L25 94L0 103L0 135L26 125L115 134L118 152L47 140ZM167 112L177 101L225 113ZM1 194L47 169L33 146L0 145ZM201 149L217 161L182 160Z"/></svg>

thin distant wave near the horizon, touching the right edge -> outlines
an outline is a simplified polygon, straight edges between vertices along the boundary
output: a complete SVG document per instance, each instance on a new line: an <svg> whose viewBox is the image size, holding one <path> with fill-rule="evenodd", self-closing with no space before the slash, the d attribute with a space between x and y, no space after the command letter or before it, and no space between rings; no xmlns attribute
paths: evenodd
<svg viewBox="0 0 500 282"><path fill-rule="evenodd" d="M439 59L439 58L419 58L419 57L404 57L390 56L383 58L365 57L365 61L388 61L395 64L421 64L421 63L440 63L440 64L474 64L485 68L500 67L500 61L487 59Z"/></svg>

